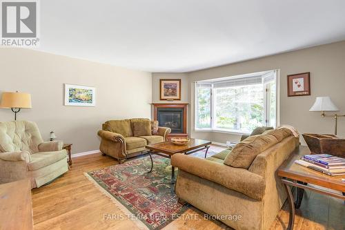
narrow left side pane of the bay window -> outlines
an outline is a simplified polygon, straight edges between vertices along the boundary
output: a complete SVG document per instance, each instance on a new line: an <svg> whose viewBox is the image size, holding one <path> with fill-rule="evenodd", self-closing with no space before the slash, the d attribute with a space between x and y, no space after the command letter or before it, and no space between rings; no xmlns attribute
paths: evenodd
<svg viewBox="0 0 345 230"><path fill-rule="evenodd" d="M211 127L211 89L197 88L197 128Z"/></svg>

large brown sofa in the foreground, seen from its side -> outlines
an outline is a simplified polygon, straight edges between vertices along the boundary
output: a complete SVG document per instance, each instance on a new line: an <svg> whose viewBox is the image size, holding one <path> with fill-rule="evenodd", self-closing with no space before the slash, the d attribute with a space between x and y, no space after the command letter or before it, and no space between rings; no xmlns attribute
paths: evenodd
<svg viewBox="0 0 345 230"><path fill-rule="evenodd" d="M299 138L281 128L207 159L175 154L177 197L234 229L269 229L286 200L277 169L298 145Z"/></svg>

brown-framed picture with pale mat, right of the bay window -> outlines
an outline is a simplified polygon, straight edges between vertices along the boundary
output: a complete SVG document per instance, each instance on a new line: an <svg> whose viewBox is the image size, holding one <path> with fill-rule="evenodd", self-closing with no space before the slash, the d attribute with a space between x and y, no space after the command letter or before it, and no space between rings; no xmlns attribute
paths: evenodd
<svg viewBox="0 0 345 230"><path fill-rule="evenodd" d="M311 95L311 73L288 75L288 97Z"/></svg>

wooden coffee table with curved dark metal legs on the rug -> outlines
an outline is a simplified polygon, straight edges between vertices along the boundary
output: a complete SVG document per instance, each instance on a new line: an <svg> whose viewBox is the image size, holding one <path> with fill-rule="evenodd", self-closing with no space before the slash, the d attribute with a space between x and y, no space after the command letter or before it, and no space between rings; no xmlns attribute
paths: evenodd
<svg viewBox="0 0 345 230"><path fill-rule="evenodd" d="M152 160L152 153L160 155L162 157L171 158L172 155L175 153L184 153L186 155L195 153L197 151L201 151L206 148L206 154L208 152L208 148L210 148L210 141L207 140L199 140L199 139L190 139L190 142L185 145L177 145L173 144L172 142L161 142L157 144L148 144L146 148L149 149L148 154L150 155L151 159L151 169L148 173L152 172L153 169L153 160ZM175 167L171 166L171 181L173 182L175 178Z"/></svg>

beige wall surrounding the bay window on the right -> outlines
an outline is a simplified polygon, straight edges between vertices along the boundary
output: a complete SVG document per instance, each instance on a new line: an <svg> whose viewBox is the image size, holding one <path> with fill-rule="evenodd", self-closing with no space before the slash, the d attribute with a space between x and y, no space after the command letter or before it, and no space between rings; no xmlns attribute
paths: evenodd
<svg viewBox="0 0 345 230"><path fill-rule="evenodd" d="M293 125L300 133L333 133L333 118L322 118L319 113L308 110L315 97L330 96L340 109L339 113L345 113L345 41L188 73L190 104L194 103L195 81L273 69L280 70L280 123ZM304 72L311 72L311 96L287 97L286 76ZM193 109L191 111L192 137L223 143L239 140L239 135L193 131ZM344 117L339 118L338 135L345 136Z"/></svg>

